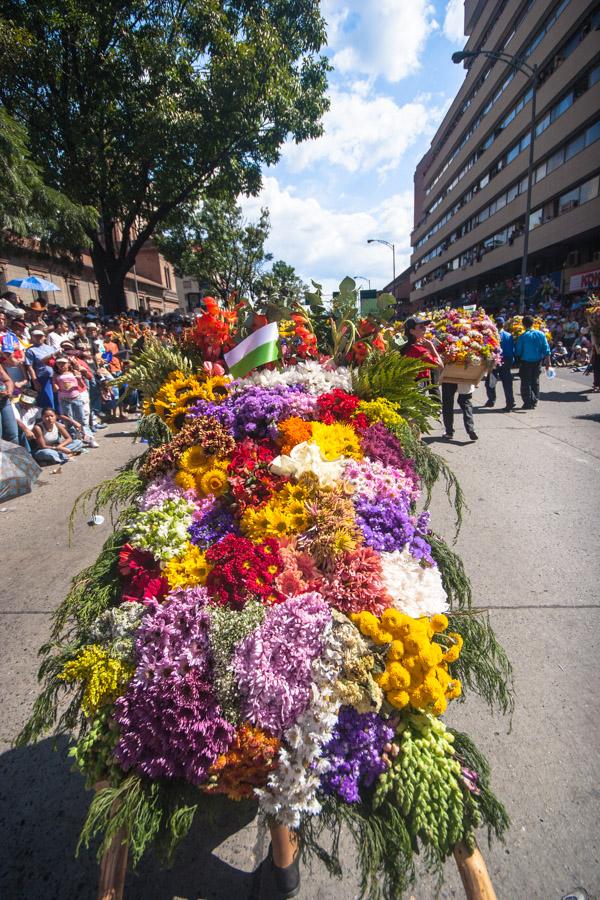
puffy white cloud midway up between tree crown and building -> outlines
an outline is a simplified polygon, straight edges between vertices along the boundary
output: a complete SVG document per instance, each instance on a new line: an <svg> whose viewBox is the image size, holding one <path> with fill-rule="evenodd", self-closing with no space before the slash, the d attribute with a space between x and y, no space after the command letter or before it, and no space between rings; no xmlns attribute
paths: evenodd
<svg viewBox="0 0 600 900"><path fill-rule="evenodd" d="M348 172L395 168L402 155L419 138L433 134L444 109L430 97L419 97L399 106L392 97L373 96L364 82L350 90L333 88L331 107L325 114L325 133L314 141L289 143L283 157L294 172L326 161Z"/></svg>

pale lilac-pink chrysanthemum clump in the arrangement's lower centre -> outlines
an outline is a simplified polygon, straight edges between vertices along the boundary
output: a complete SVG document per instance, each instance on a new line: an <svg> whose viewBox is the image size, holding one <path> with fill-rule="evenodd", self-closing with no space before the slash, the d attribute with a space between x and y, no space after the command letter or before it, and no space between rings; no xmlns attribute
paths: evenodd
<svg viewBox="0 0 600 900"><path fill-rule="evenodd" d="M311 666L331 621L320 594L300 594L272 607L233 657L245 719L281 737L306 709Z"/></svg>

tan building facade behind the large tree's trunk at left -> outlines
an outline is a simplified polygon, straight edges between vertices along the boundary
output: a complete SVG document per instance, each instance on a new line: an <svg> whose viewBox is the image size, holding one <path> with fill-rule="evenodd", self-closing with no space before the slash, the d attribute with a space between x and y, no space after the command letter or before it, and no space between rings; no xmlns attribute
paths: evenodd
<svg viewBox="0 0 600 900"><path fill-rule="evenodd" d="M91 256L86 251L79 263L68 263L37 252L31 242L0 249L0 294L7 289L14 290L7 288L7 282L13 278L29 275L52 281L59 290L48 295L17 290L25 302L45 299L65 308L99 306L98 282ZM127 309L137 310L141 315L163 316L180 311L175 270L151 240L144 244L135 267L127 275L125 299Z"/></svg>

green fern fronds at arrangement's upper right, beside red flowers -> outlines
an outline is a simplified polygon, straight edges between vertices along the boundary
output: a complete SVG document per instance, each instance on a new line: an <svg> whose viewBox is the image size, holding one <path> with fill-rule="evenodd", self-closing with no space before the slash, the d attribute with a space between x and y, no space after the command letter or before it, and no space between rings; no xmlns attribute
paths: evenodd
<svg viewBox="0 0 600 900"><path fill-rule="evenodd" d="M417 375L423 368L419 360L408 359L397 350L371 354L352 375L353 390L364 399L385 397L399 406L400 415L420 431L429 431L429 419L436 416L439 404L419 389Z"/></svg>

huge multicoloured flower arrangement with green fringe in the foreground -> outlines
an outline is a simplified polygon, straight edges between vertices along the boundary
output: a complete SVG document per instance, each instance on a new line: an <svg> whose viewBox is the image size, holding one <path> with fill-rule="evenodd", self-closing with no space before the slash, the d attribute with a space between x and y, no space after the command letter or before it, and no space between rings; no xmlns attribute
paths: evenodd
<svg viewBox="0 0 600 900"><path fill-rule="evenodd" d="M117 479L130 505L59 612L72 627L25 734L74 689L59 727L109 783L87 839L118 821L135 861L198 803L251 798L308 851L352 820L363 884L397 896L419 846L440 866L481 821L506 828L485 761L439 717L469 687L506 707L510 667L417 509L402 410L360 383L317 362L237 382L208 367L147 398L172 437Z"/></svg>

